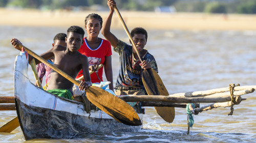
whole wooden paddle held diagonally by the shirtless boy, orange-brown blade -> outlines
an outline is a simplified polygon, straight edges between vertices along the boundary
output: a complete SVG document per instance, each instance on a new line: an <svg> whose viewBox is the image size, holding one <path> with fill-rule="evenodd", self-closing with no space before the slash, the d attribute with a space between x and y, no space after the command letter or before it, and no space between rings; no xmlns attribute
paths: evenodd
<svg viewBox="0 0 256 143"><path fill-rule="evenodd" d="M22 44L18 44L18 47L24 47L30 55L34 56L34 58L46 64L47 66L58 72L60 75L79 86L79 82L77 80L75 80L65 72L61 71L54 65L50 64L45 59L41 58L41 56L37 55L27 47L23 46ZM113 94L94 86L91 86L89 89L86 90L86 92L89 101L91 101L95 106L100 108L105 113L108 113L108 115L110 115L118 122L130 126L142 125L140 118L138 117L133 107L124 102L123 100L119 99L118 97L114 96Z"/></svg>

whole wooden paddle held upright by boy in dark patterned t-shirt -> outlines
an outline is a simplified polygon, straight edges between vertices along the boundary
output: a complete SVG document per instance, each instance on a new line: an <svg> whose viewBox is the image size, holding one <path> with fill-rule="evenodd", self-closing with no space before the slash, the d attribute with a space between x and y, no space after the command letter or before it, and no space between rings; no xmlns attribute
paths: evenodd
<svg viewBox="0 0 256 143"><path fill-rule="evenodd" d="M119 20L122 23L122 26L126 32L126 34L129 36L130 40L132 41L133 47L136 50L136 53L139 56L140 61L144 61L139 50L136 48L136 45L133 41L133 38L124 23L124 20L118 11L117 7L114 6L114 10L119 18ZM160 76L157 74L157 72L153 69L146 69L142 72L142 82L144 84L144 87L146 89L146 92L148 95L165 95L168 96L168 91L166 90ZM172 123L175 118L175 109L174 107L155 107L158 115L162 117L162 119L166 122Z"/></svg>

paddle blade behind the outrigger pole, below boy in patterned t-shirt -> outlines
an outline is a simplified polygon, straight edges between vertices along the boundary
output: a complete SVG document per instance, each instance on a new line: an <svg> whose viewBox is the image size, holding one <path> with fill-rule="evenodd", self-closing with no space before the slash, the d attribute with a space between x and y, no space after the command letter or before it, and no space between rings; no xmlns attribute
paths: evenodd
<svg viewBox="0 0 256 143"><path fill-rule="evenodd" d="M154 69L146 69L142 72L142 82L148 95L169 95L162 79ZM174 121L174 107L155 107L155 109L164 121L168 123L172 123Z"/></svg>

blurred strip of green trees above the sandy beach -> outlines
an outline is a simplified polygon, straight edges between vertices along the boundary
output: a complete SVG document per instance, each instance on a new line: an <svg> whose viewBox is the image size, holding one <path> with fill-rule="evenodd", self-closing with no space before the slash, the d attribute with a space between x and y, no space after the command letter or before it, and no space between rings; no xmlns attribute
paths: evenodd
<svg viewBox="0 0 256 143"><path fill-rule="evenodd" d="M255 0L117 0L121 10L255 14ZM1 0L0 7L40 10L108 10L106 0Z"/></svg>

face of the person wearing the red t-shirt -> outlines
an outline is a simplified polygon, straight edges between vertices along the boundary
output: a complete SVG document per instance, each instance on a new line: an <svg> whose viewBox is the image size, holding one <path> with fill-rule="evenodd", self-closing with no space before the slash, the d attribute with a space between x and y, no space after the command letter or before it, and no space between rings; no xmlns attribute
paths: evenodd
<svg viewBox="0 0 256 143"><path fill-rule="evenodd" d="M98 19L91 18L85 25L88 37L98 37L101 30L100 21Z"/></svg>

